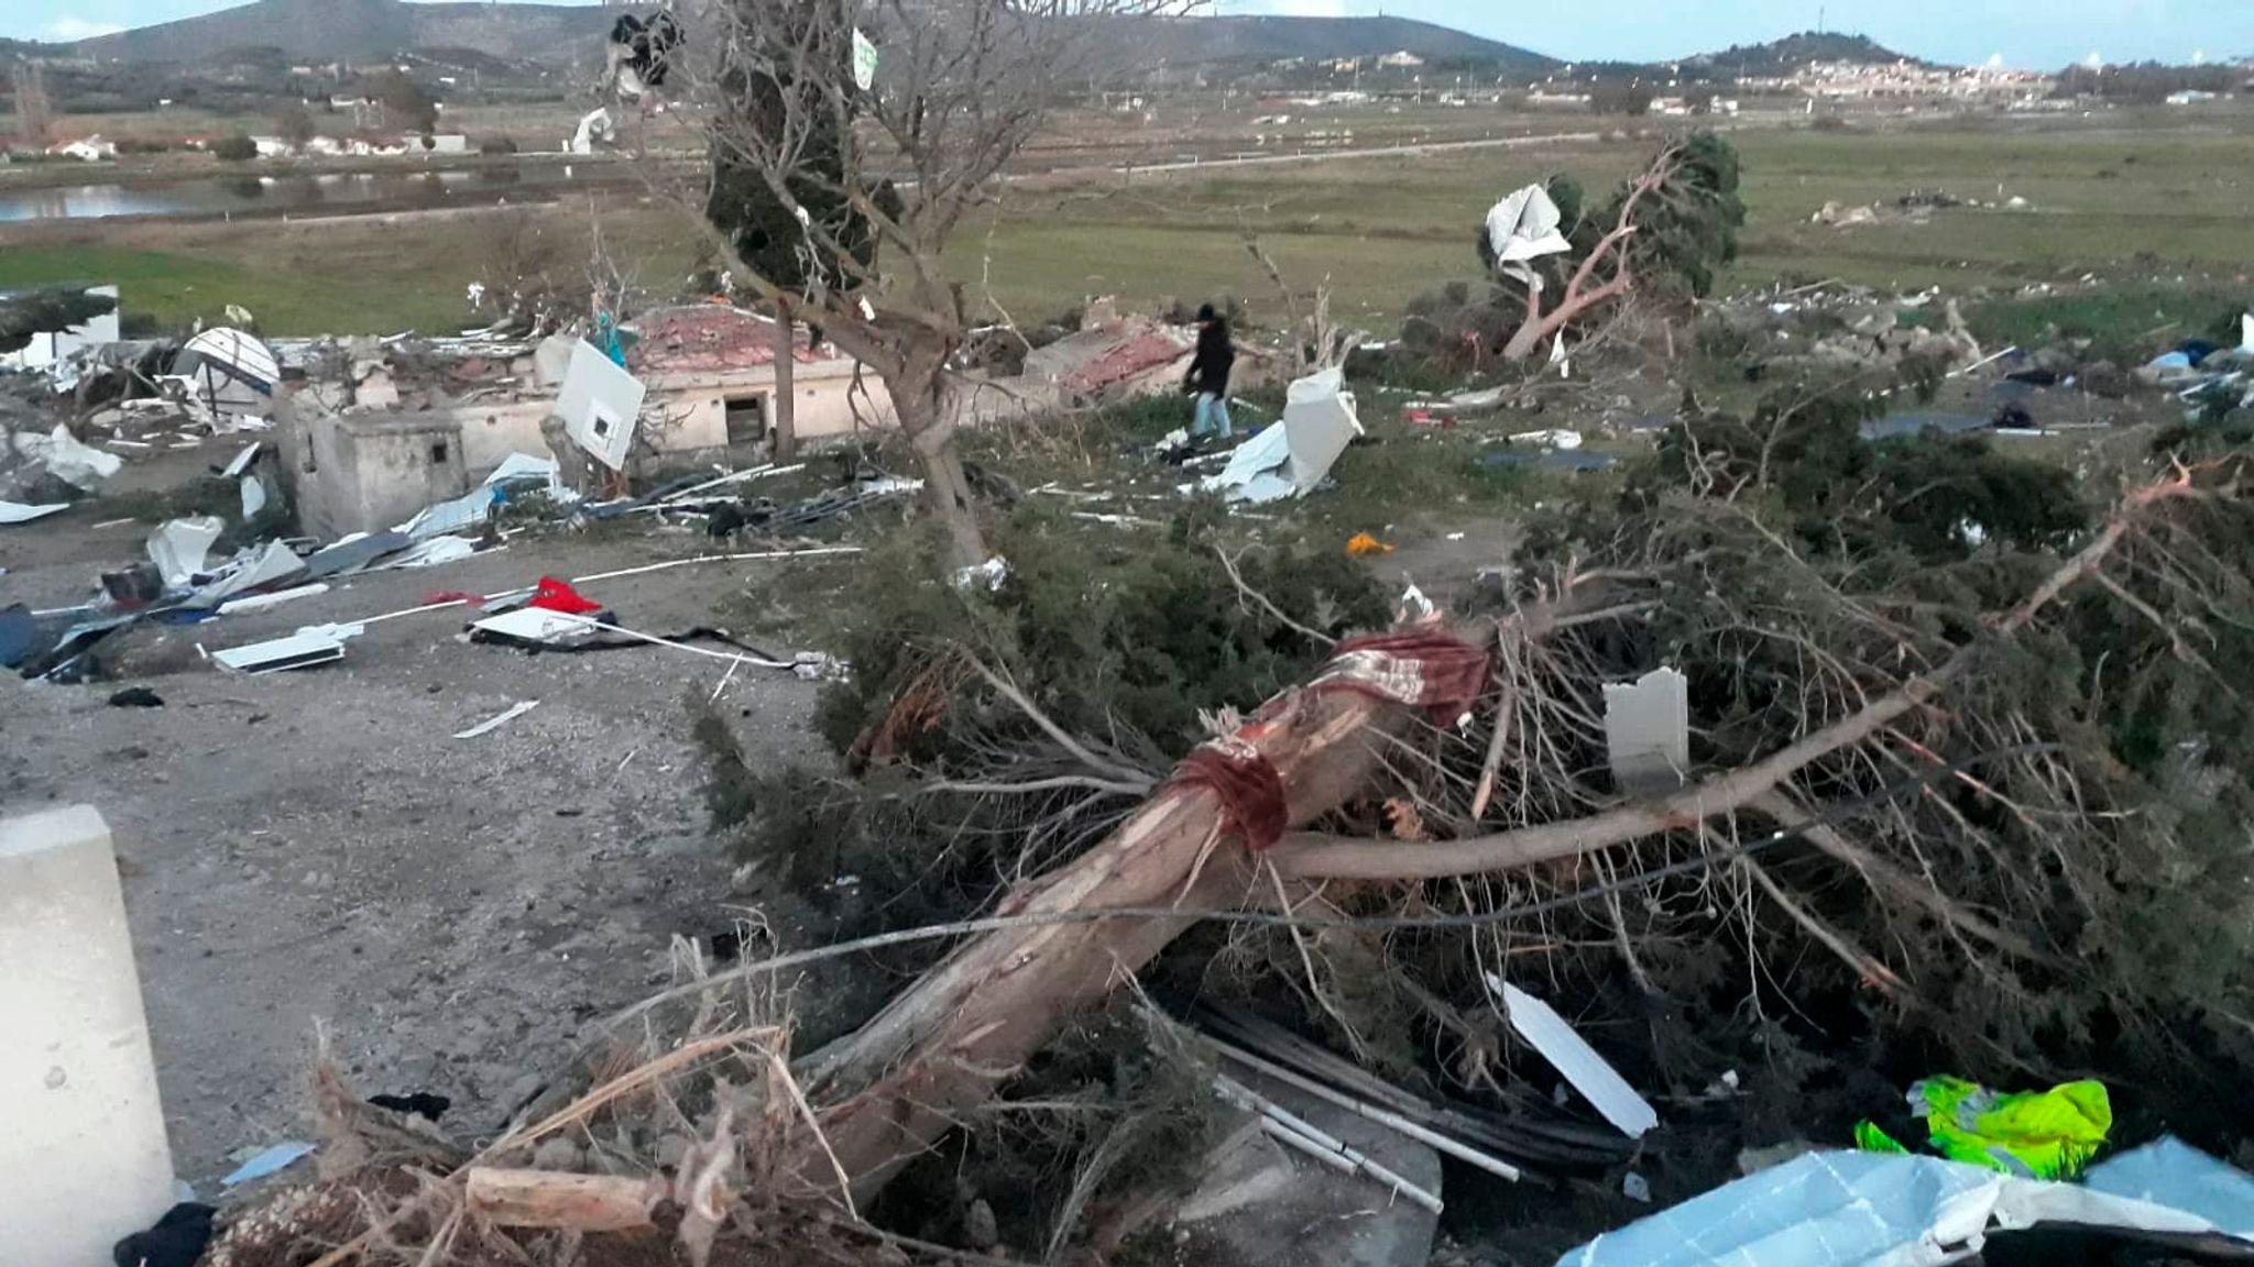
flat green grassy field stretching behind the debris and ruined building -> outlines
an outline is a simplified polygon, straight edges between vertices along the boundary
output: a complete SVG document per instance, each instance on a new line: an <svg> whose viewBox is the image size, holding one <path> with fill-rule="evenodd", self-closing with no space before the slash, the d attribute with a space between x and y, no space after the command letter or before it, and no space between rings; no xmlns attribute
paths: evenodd
<svg viewBox="0 0 2254 1267"><path fill-rule="evenodd" d="M1129 307L1168 298L1237 295L1276 318L1274 284L1244 232L1301 291L1330 282L1337 307L1373 329L1416 293L1476 275L1474 232L1508 189L1569 171L1609 187L1652 140L1553 142L1537 149L1352 158L1276 167L1208 167L1172 176L1046 178L1017 185L958 234L951 271L974 304L1019 320L1120 295ZM2083 277L2135 284L2089 320L2175 320L2168 295L2243 291L2254 264L2254 124L2200 129L1927 126L1900 131L1738 133L1749 223L1745 257L1724 289L1778 280L1848 282L2004 295L2029 282ZM1839 230L1810 223L1823 203L1891 201L1914 189L1959 198L2022 196L2024 212L1959 207L1925 225ZM577 271L586 205L521 212L539 219L554 262ZM462 300L491 280L496 243L514 214L293 221L257 225L38 225L0 230L0 286L119 282L128 311L165 325L212 318L225 304L259 313L275 334L374 334L473 322ZM613 252L640 264L642 284L669 295L696 234L667 212L604 207ZM2022 307L2042 327L2056 313Z"/></svg>

